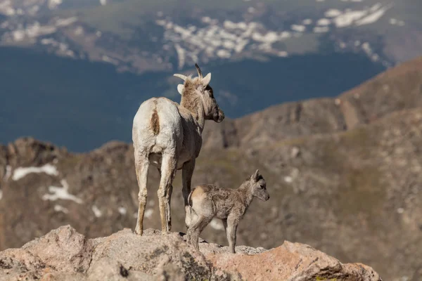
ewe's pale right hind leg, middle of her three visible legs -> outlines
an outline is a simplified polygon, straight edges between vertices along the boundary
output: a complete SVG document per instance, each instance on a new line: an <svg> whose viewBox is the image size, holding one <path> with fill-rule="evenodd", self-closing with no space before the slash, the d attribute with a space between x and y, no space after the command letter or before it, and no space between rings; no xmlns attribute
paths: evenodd
<svg viewBox="0 0 422 281"><path fill-rule="evenodd" d="M177 157L163 153L161 162L160 188L158 188L158 202L160 204L161 231L167 234L172 229L170 216L170 196L172 195L172 181L176 175Z"/></svg>

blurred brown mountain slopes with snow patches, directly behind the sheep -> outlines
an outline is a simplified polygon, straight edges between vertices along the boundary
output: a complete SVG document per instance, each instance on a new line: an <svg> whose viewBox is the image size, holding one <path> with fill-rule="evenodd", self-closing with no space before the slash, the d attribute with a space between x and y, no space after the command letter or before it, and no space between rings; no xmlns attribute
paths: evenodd
<svg viewBox="0 0 422 281"><path fill-rule="evenodd" d="M279 105L215 128L207 124L193 185L236 188L260 169L271 199L252 204L238 244L302 242L342 262L366 263L389 280L420 279L420 70L418 59L338 99ZM0 248L20 247L65 223L89 237L134 228L133 163L130 143L106 143L82 154L32 138L0 146ZM172 225L186 231L179 174ZM145 227L160 228L156 169L148 183ZM225 244L222 229L213 221L203 237Z"/></svg>

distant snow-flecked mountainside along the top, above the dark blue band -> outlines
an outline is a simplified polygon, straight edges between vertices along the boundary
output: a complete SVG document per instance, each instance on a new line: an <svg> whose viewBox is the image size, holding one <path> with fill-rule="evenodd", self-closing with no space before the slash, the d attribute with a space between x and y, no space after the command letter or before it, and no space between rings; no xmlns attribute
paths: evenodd
<svg viewBox="0 0 422 281"><path fill-rule="evenodd" d="M388 66L421 55L421 11L411 0L1 0L0 44L139 73L317 53L321 44Z"/></svg>

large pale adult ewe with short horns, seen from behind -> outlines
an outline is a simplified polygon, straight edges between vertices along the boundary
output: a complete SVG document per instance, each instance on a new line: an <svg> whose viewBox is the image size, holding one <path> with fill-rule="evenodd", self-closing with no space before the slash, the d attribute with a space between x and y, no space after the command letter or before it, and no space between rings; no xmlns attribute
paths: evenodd
<svg viewBox="0 0 422 281"><path fill-rule="evenodd" d="M188 213L188 195L195 159L202 145L202 132L207 119L222 122L224 112L219 109L210 86L211 73L203 77L197 64L198 77L174 74L184 80L177 86L181 94L180 105L167 98L150 98L144 101L134 117L132 141L136 178L139 185L139 209L135 233L143 233L143 213L147 198L148 166L153 164L160 172L158 200L162 233L172 228L170 200L176 171L182 169L183 197L186 227L191 223Z"/></svg>

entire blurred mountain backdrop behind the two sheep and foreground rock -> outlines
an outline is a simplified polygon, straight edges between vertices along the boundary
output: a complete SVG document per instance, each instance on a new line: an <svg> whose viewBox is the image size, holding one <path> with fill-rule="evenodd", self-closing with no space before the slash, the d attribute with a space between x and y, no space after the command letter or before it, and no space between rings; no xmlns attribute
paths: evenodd
<svg viewBox="0 0 422 281"><path fill-rule="evenodd" d="M260 169L238 244L310 244L422 279L419 0L0 0L0 250L136 224L132 120L174 73L212 73L193 184ZM151 169L146 228L160 228ZM180 174L174 231L186 232ZM257 231L260 230L260 231ZM203 233L226 244L222 224Z"/></svg>

